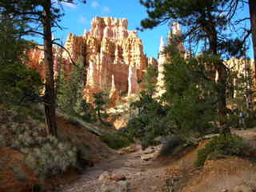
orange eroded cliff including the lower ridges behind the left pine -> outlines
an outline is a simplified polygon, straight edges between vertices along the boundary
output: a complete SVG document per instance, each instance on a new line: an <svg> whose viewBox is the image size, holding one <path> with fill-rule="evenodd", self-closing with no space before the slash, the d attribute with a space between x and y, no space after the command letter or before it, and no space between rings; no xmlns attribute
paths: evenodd
<svg viewBox="0 0 256 192"><path fill-rule="evenodd" d="M62 69L69 72L73 68L70 56L74 61L84 59L86 66L85 98L92 101L98 91L110 90L115 98L121 93L135 94L140 90L140 82L148 65L157 66L154 58L146 58L142 40L134 30L128 30L126 18L100 18L91 22L92 28L82 36L69 34L66 40L66 51L54 48L58 74L58 58L62 52ZM30 66L40 70L45 76L42 50L30 53ZM114 90L113 90L114 89Z"/></svg>

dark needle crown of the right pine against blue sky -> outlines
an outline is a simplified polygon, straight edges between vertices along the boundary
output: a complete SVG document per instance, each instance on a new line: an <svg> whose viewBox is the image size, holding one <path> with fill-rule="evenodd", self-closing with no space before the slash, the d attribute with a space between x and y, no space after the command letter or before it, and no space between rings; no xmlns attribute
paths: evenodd
<svg viewBox="0 0 256 192"><path fill-rule="evenodd" d="M223 44L227 42L224 52L228 52L231 46L236 50L242 47L237 38L229 39L227 32L227 26L235 19L234 13L238 10L237 3L240 0L231 2L229 0L214 2L210 0L140 0L140 2L145 6L148 14L147 18L141 22L142 29L152 29L165 22L178 22L186 26L186 34L182 38L192 38L190 40L196 43L207 41L208 48L212 46L210 41L216 40L218 50L222 50ZM222 10L226 10L225 13ZM220 12L222 14L219 14ZM210 35L215 35L218 39L210 39ZM207 49L202 47L202 50ZM230 52L234 53L234 50Z"/></svg>

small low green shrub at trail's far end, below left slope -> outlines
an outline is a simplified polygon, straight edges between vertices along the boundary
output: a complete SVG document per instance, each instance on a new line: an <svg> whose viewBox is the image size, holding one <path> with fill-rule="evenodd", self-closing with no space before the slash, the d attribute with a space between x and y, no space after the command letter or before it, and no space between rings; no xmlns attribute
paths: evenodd
<svg viewBox="0 0 256 192"><path fill-rule="evenodd" d="M105 142L107 146L114 150L121 149L123 147L129 146L131 141L129 138L122 134L103 134L100 136L102 142Z"/></svg>

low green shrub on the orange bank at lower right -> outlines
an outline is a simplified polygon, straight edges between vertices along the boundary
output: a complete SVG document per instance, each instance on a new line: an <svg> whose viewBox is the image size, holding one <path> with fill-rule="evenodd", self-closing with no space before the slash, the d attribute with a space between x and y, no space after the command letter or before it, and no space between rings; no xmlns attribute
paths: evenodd
<svg viewBox="0 0 256 192"><path fill-rule="evenodd" d="M213 156L238 155L246 156L246 144L235 134L222 134L213 138L202 150L198 150L195 166L203 166L210 154Z"/></svg>

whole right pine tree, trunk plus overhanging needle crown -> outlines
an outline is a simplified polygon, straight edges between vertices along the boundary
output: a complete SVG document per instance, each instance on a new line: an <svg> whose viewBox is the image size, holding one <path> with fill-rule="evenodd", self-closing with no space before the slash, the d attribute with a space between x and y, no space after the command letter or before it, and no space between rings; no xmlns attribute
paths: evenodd
<svg viewBox="0 0 256 192"><path fill-rule="evenodd" d="M154 28L164 22L179 22L186 26L186 34L183 40L190 38L194 45L206 42L203 52L211 54L213 69L216 72L216 94L218 96L218 122L221 133L230 133L226 126L226 79L227 68L223 58L228 58L232 54L238 54L242 48L242 43L238 43L237 38L232 37L226 30L230 24L236 6L229 0L141 0L146 7L148 18L142 20L142 29ZM228 10L228 11L223 11ZM222 13L222 14L220 14ZM226 45L236 48L230 50ZM234 46L236 45L236 46ZM232 46L228 46L229 48ZM232 56L233 56L232 55Z"/></svg>

